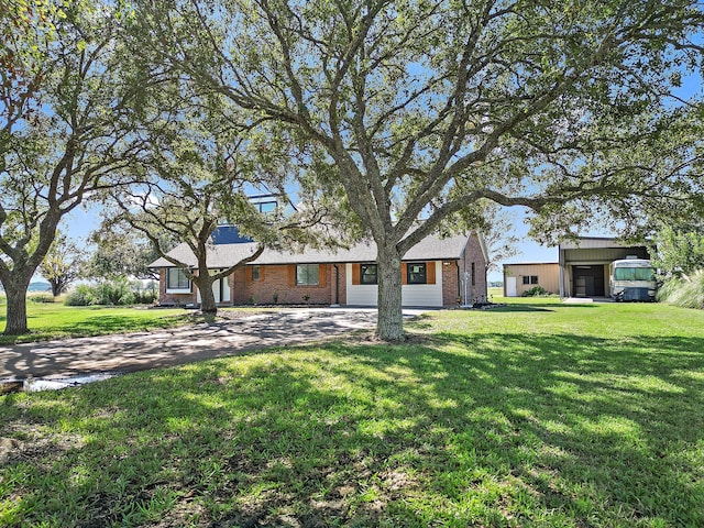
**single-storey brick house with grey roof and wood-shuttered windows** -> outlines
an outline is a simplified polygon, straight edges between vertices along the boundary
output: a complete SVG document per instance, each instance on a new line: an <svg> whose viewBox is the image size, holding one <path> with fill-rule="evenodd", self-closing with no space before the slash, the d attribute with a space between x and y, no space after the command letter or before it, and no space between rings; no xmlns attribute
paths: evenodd
<svg viewBox="0 0 704 528"><path fill-rule="evenodd" d="M240 240L215 243L208 255L212 270L229 267L251 255L256 244ZM170 256L195 267L186 244ZM302 253L267 250L256 261L213 284L216 301L231 305L344 305L376 306L376 246L360 243L349 250L308 250ZM404 306L453 307L486 299L486 245L481 235L419 242L402 263ZM160 270L160 301L199 304L199 294L180 270L165 258L150 267ZM466 297L466 298L465 298Z"/></svg>

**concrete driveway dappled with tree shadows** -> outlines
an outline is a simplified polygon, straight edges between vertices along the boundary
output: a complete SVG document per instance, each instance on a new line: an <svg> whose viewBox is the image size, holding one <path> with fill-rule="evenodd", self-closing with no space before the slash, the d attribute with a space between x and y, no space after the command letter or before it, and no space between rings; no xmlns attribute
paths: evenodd
<svg viewBox="0 0 704 528"><path fill-rule="evenodd" d="M404 310L406 317L424 310ZM0 380L133 372L374 328L376 309L305 308L152 332L0 346Z"/></svg>

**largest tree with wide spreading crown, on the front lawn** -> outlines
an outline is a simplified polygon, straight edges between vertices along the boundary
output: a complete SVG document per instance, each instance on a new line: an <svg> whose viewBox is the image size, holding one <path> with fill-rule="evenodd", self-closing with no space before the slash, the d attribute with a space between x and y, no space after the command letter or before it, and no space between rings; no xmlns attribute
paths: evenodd
<svg viewBox="0 0 704 528"><path fill-rule="evenodd" d="M530 209L537 238L701 204L701 138L657 150L701 66L695 1L135 4L155 65L320 148L320 186L376 242L385 340L403 256L481 200Z"/></svg>

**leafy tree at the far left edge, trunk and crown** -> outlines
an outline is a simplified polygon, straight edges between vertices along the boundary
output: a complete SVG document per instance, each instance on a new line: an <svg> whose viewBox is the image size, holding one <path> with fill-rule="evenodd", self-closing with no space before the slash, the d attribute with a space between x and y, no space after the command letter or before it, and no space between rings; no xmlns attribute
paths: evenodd
<svg viewBox="0 0 704 528"><path fill-rule="evenodd" d="M62 218L89 195L124 183L121 169L143 146L125 119L127 101L139 89L122 81L113 7L88 1L58 6L10 1L0 15L6 334L29 331L26 289ZM6 24L8 19L12 23Z"/></svg>

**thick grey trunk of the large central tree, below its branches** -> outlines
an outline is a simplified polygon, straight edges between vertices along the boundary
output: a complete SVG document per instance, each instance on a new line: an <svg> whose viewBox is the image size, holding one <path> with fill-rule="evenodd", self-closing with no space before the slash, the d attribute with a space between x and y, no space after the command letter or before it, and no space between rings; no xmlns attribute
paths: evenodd
<svg viewBox="0 0 704 528"><path fill-rule="evenodd" d="M384 341L404 340L400 255L396 248L378 244L378 320L376 332Z"/></svg>

